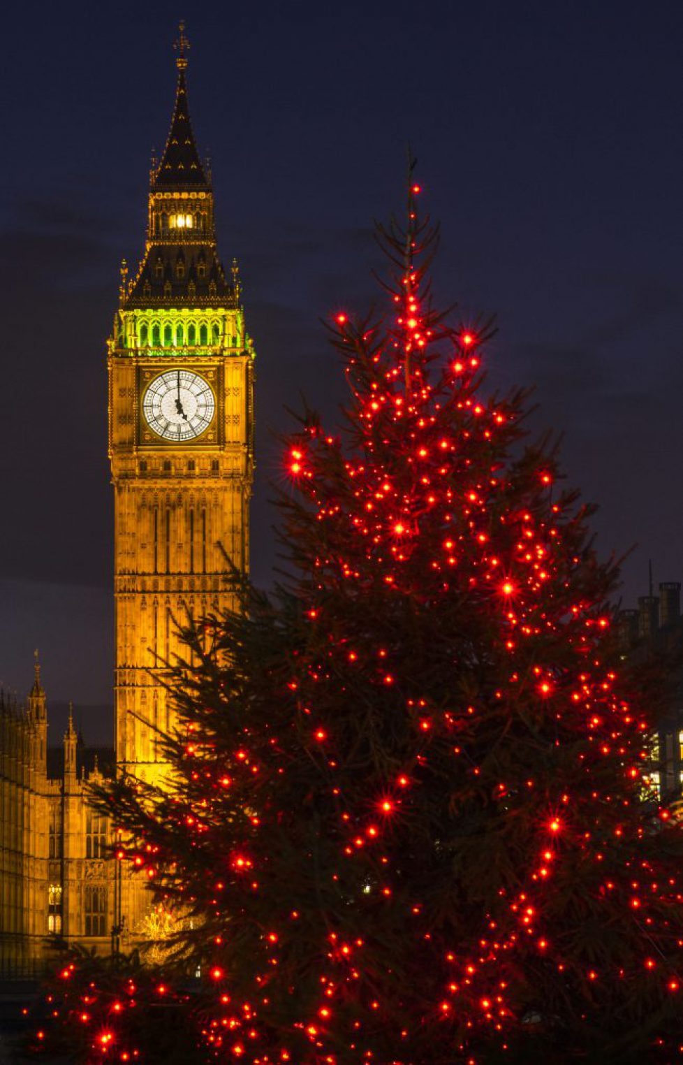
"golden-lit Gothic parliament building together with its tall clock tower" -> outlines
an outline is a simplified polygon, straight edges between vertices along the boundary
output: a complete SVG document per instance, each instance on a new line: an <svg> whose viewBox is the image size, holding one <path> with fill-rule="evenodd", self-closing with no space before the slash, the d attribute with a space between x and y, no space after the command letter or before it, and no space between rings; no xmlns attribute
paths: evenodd
<svg viewBox="0 0 683 1065"><path fill-rule="evenodd" d="M84 748L69 714L48 747L36 653L23 705L0 700L0 977L35 974L60 944L105 952L146 937L151 898L112 856L112 826L88 785L167 774L172 728L150 673L177 648L174 618L233 605L229 563L249 564L253 473L252 342L233 260L218 258L211 174L187 108L177 42L170 131L152 164L145 251L121 267L107 341L109 453L115 495L115 748ZM152 921L153 924L153 921Z"/></svg>

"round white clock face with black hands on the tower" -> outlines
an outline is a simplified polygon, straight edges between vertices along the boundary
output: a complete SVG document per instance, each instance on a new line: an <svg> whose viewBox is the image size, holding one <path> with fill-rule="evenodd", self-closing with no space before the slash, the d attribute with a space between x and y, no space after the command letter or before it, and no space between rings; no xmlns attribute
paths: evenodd
<svg viewBox="0 0 683 1065"><path fill-rule="evenodd" d="M143 413L164 440L194 440L209 428L216 400L203 377L189 370L168 370L145 393Z"/></svg>

